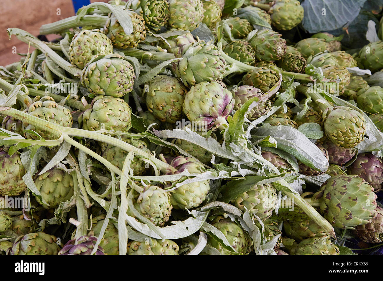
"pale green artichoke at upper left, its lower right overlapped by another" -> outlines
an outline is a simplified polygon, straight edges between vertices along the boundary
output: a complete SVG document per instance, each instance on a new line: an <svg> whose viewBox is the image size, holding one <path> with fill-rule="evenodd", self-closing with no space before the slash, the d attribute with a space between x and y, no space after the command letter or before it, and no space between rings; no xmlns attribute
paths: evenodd
<svg viewBox="0 0 383 281"><path fill-rule="evenodd" d="M68 51L70 63L83 69L97 54L113 54L112 41L100 29L83 29L73 36Z"/></svg>

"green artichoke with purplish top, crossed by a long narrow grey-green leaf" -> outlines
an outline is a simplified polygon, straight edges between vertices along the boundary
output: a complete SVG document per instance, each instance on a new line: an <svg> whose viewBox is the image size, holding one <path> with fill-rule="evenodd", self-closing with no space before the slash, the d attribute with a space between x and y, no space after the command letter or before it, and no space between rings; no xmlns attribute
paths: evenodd
<svg viewBox="0 0 383 281"><path fill-rule="evenodd" d="M191 174L205 172L205 167L191 157L177 156L170 162L170 165L177 169L175 174L188 170ZM170 174L170 172L168 173ZM169 184L170 186L171 184ZM185 210L198 207L205 200L210 190L209 180L191 182L181 185L170 192L170 203L174 209Z"/></svg>

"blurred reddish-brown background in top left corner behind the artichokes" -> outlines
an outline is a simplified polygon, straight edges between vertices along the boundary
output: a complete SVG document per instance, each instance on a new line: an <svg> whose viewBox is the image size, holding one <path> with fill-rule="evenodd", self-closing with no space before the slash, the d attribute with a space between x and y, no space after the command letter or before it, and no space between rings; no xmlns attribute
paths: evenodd
<svg viewBox="0 0 383 281"><path fill-rule="evenodd" d="M108 2L108 0L90 2ZM57 15L58 8L61 10L61 15ZM28 45L16 37L13 36L9 40L7 28L21 28L37 36L42 24L75 14L71 0L1 0L0 11L0 65L8 65L20 59L19 55L12 54L13 47L16 47L18 53L26 53L28 50ZM56 35L49 35L47 38L52 40Z"/></svg>

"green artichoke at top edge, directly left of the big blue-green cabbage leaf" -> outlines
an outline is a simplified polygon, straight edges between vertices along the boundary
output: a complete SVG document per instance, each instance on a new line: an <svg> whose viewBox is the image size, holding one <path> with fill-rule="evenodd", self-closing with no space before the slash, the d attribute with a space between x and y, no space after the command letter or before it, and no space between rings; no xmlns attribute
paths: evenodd
<svg viewBox="0 0 383 281"><path fill-rule="evenodd" d="M304 10L298 0L277 0L268 13L275 28L290 30L302 21Z"/></svg>

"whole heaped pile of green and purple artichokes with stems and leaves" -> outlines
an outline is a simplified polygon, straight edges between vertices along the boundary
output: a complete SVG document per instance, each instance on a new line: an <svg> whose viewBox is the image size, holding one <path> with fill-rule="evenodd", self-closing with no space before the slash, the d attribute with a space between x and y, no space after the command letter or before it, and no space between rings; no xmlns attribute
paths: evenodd
<svg viewBox="0 0 383 281"><path fill-rule="evenodd" d="M0 254L378 249L383 43L306 9L113 0L52 42L8 29L35 50L0 71Z"/></svg>

